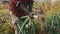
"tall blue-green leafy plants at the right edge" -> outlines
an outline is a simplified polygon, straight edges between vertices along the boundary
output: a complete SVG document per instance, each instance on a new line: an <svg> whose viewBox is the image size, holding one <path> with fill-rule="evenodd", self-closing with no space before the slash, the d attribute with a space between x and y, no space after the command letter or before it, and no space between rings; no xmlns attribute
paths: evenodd
<svg viewBox="0 0 60 34"><path fill-rule="evenodd" d="M46 29L52 34L59 34L57 29L60 29L60 15L54 13L51 18L46 19Z"/></svg>

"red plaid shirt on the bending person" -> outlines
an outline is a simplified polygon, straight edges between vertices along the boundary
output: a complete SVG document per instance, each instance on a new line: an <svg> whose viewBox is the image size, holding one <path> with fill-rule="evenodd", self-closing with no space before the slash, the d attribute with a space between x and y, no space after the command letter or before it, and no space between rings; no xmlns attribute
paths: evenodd
<svg viewBox="0 0 60 34"><path fill-rule="evenodd" d="M16 16L20 16L20 15L24 14L23 10L18 10L18 8L16 7L16 3L20 2L20 1L22 1L24 3L28 2L28 0L9 0L9 10ZM29 1L33 2L33 0L29 0Z"/></svg>

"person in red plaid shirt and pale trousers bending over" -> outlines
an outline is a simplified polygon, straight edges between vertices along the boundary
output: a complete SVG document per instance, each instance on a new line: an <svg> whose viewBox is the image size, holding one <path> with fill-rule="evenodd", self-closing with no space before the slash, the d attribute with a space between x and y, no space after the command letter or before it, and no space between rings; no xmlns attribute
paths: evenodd
<svg viewBox="0 0 60 34"><path fill-rule="evenodd" d="M15 34L18 34L16 20L21 16L29 15L32 17L33 0L9 0L9 10L12 18L12 25L15 30Z"/></svg>

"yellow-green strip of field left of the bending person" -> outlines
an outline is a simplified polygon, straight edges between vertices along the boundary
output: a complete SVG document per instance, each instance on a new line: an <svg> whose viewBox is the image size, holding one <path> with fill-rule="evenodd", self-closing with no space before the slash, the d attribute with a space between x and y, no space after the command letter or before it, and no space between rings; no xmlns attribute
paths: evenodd
<svg viewBox="0 0 60 34"><path fill-rule="evenodd" d="M14 34L8 4L0 4L0 34Z"/></svg>

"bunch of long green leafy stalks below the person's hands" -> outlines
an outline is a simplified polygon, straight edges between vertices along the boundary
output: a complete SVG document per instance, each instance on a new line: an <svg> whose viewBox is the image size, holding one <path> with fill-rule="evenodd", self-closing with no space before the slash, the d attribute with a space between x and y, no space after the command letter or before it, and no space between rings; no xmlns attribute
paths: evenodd
<svg viewBox="0 0 60 34"><path fill-rule="evenodd" d="M32 34L35 34L33 22L31 21L31 19L28 16L20 18L18 20L17 25L18 25L18 28L19 28L19 34L20 33L22 33L22 34L28 34L28 33L31 34L32 31L33 31Z"/></svg>

